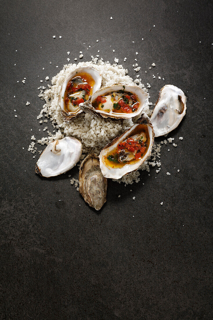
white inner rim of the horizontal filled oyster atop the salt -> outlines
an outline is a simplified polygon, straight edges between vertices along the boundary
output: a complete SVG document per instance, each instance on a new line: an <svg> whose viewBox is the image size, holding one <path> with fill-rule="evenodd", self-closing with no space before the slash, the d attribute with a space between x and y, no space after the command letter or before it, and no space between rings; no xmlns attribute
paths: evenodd
<svg viewBox="0 0 213 320"><path fill-rule="evenodd" d="M123 89L123 86L125 86L125 89ZM134 113L119 113L119 112L109 113L104 110L96 110L96 112L103 114L103 115L106 115L108 117L129 119L129 118L138 116L143 111L143 109L149 104L148 93L146 91L144 91L143 89L138 87L138 85L127 85L124 83L114 84L109 87L104 87L104 88L100 89L99 91L95 92L92 95L91 103L93 103L93 101L95 101L98 96L104 96L106 93L110 93L113 91L116 92L119 90L129 91L129 92L132 92L138 96L140 104L139 104L138 110L136 112L134 112Z"/></svg>

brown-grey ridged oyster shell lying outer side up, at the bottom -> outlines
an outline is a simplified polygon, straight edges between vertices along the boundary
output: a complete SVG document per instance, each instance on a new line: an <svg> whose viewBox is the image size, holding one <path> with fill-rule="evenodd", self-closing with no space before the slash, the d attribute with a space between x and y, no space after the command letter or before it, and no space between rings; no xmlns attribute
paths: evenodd
<svg viewBox="0 0 213 320"><path fill-rule="evenodd" d="M106 202L107 179L99 164L99 158L91 154L83 160L79 171L79 192L95 210L100 210Z"/></svg>

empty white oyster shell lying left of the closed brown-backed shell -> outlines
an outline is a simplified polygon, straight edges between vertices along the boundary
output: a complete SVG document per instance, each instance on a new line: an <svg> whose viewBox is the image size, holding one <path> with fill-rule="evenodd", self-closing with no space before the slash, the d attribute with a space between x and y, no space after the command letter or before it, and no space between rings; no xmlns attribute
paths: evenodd
<svg viewBox="0 0 213 320"><path fill-rule="evenodd" d="M51 142L42 152L35 165L35 172L49 178L72 169L82 154L81 142L65 137Z"/></svg>

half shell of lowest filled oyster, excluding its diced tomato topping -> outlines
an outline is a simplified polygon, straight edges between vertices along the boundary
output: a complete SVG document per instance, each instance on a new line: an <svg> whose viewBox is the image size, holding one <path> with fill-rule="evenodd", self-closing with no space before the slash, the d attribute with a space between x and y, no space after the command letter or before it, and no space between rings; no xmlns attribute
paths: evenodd
<svg viewBox="0 0 213 320"><path fill-rule="evenodd" d="M142 138L145 137L145 138ZM121 144L127 139L137 140L146 145L144 153L136 160L135 153L127 150L118 150L118 161L112 158L113 152L116 155L115 149L118 144ZM144 139L144 140L143 140ZM152 145L154 142L154 130L148 116L143 114L129 130L125 131L120 137L115 138L112 142L107 144L100 152L100 168L104 177L111 179L120 179L125 174L138 169L138 167L150 156ZM119 153L120 152L120 153ZM135 152L135 151L134 151ZM137 151L138 152L138 151ZM110 161L109 161L109 160ZM114 162L115 161L115 162ZM117 162L117 163L116 163Z"/></svg>

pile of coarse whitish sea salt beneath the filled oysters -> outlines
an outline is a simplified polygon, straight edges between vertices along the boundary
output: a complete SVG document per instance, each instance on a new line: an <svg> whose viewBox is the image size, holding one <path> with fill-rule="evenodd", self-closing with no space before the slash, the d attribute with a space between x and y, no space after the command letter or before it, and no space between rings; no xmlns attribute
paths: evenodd
<svg viewBox="0 0 213 320"><path fill-rule="evenodd" d="M125 84L136 84L136 81L134 82L133 79L127 75L128 70L124 69L122 65L111 65L110 63L103 62L102 60L98 61L98 59L95 58L93 61L79 62L77 65L75 63L64 65L63 69L52 78L52 86L48 85L49 89L45 90L44 92L40 92L39 97L42 100L45 100L45 104L43 105L43 109L41 110L37 119L40 120L43 118L43 116L49 118L54 128L53 132L56 130L57 132L51 133L47 131L48 136L43 137L41 140L37 140L37 142L41 145L44 145L49 144L53 140L62 139L65 136L73 136L82 142L83 153L80 162L82 162L85 156L90 153L99 155L101 149L107 143L112 141L115 137L120 136L125 130L129 129L140 117L137 116L129 120L112 120L81 113L78 117L70 121L70 123L64 122L60 113L58 101L62 84L69 73L74 71L76 68L85 66L93 67L99 71L102 76L101 87L121 82ZM148 90L144 87L144 84L142 84L141 81L138 81L138 79L137 84L140 88L143 88L146 92L148 92ZM148 116L151 115L151 111L148 106L143 110L143 113L146 113ZM40 120L40 123L42 122L46 121ZM47 127L45 127L43 131L46 129ZM160 144L154 144L151 156L138 168L137 171L131 172L121 179L114 181L132 184L133 182L138 182L140 180L139 170L146 170L149 172L150 165L157 166L158 169L160 169L160 149ZM29 151L32 152L32 150ZM80 164L78 164L78 166L80 166Z"/></svg>

